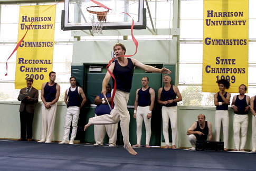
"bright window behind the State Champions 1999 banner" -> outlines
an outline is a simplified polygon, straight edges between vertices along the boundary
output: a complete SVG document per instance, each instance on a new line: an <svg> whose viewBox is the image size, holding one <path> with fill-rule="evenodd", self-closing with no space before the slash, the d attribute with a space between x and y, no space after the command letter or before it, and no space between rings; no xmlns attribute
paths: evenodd
<svg viewBox="0 0 256 171"><path fill-rule="evenodd" d="M256 1L249 0L249 74L248 95L256 94ZM196 9L196 10L195 10ZM214 93L201 92L203 65L203 0L181 1L181 36L179 42L179 90L182 105L214 106ZM216 84L217 86L217 84ZM231 93L231 102L234 95Z"/></svg>

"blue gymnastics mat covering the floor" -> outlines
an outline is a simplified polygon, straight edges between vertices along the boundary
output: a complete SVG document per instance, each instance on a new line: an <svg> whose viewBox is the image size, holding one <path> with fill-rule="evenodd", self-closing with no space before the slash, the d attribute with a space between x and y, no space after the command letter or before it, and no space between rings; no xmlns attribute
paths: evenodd
<svg viewBox="0 0 256 171"><path fill-rule="evenodd" d="M0 140L0 170L255 170L255 153Z"/></svg>

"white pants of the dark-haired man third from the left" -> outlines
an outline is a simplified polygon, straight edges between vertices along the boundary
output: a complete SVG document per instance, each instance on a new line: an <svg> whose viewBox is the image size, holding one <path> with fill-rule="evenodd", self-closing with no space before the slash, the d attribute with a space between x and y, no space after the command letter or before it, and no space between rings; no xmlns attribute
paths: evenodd
<svg viewBox="0 0 256 171"><path fill-rule="evenodd" d="M78 118L79 118L80 107L70 106L67 109L66 118L65 118L65 129L63 140L67 141L69 139L70 125L72 122L72 133L70 139L74 140L77 135L78 129Z"/></svg>

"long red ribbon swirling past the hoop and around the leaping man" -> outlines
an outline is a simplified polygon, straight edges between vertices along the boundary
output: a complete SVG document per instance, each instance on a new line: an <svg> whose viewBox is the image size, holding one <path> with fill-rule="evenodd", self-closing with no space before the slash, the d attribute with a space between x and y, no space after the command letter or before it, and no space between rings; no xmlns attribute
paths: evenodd
<svg viewBox="0 0 256 171"><path fill-rule="evenodd" d="M110 9L109 7L107 7L107 6L105 6L105 5L101 4L101 3L99 3L99 2L97 2L97 1L94 1L94 0L90 0L90 1L93 2L93 3L95 3L95 4L97 4L97 5L99 5L100 7L107 8L107 9L109 9L109 10L112 10L112 9ZM122 13L125 13L125 12L122 12ZM127 14L129 17L131 17L128 13L125 13L125 14ZM135 39L134 34L133 34L133 30L134 30L134 19L131 18L131 20L132 20L132 24L131 24L131 37L132 37L132 41L134 42L134 44L135 44L135 46L136 46L136 50L135 50L135 53L134 53L133 55L121 55L121 56L123 56L123 57L131 57L131 56L134 56L134 55L137 53L137 50L138 50L138 45L139 45L139 43L138 43L138 41ZM117 57L121 57L121 56L117 56ZM115 58L113 58L112 60L110 60L109 63L108 63L108 65L107 65L107 67L106 67L107 70L108 70L108 72L110 73L111 77L115 80L115 82L114 82L114 90L113 90L113 94L112 94L112 97L111 97L111 99L112 99L112 100L111 100L111 107L112 107L112 108L113 108L113 99L114 99L115 94L116 94L117 83L116 83L116 78L115 78L115 76L113 75L113 73L112 73L108 68L109 68L111 62L112 62L113 60L115 60L117 57L115 57Z"/></svg>

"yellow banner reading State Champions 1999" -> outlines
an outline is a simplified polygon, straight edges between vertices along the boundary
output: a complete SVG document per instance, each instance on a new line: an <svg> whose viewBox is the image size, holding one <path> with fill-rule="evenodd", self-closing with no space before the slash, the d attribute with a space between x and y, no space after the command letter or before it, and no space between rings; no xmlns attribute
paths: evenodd
<svg viewBox="0 0 256 171"><path fill-rule="evenodd" d="M204 0L202 92L218 92L225 78L228 92L248 86L248 0Z"/></svg>

